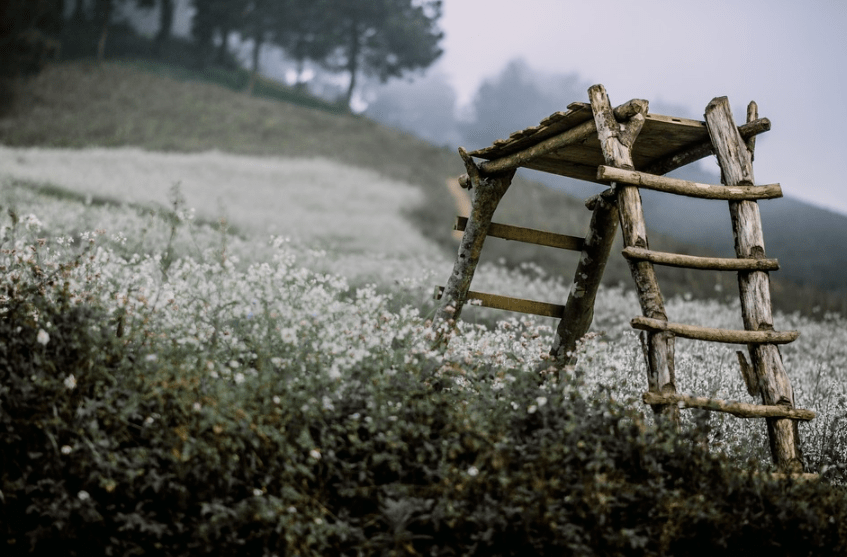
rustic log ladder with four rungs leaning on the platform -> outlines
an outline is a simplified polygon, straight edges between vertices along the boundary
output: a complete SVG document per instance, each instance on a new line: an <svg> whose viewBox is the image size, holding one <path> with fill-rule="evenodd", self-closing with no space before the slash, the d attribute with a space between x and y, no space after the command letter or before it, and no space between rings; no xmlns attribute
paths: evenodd
<svg viewBox="0 0 847 557"><path fill-rule="evenodd" d="M637 118L619 122L602 85L589 89L591 107L606 165L598 169L598 179L608 181L616 193L627 258L638 291L642 316L631 324L640 329L647 357L648 392L643 400L653 410L673 421L679 408L702 408L728 412L743 418L767 420L771 455L785 472L803 471L798 420L811 420L814 412L795 408L794 393L782 363L779 345L792 342L799 333L779 332L773 327L768 271L776 270L775 259L765 257L758 199L781 197L778 184L755 186L753 152L755 139L742 139L732 118L726 97L712 100L706 107L706 127L722 173L722 185L706 185L635 171L632 145L640 127ZM756 119L757 108L750 103L748 122ZM695 257L653 251L647 243L646 225L638 188L677 195L722 199L729 202L735 236L736 258ZM744 330L714 329L668 321L656 280L654 265L689 269L738 272ZM739 351L742 376L751 396L762 404L724 401L679 394L674 377L675 337L746 344L750 362Z"/></svg>

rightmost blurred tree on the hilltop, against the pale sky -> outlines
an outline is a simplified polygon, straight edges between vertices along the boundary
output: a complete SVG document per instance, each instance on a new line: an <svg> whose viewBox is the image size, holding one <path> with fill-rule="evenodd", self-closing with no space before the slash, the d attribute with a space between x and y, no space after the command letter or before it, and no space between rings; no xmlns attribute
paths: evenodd
<svg viewBox="0 0 847 557"><path fill-rule="evenodd" d="M440 0L335 0L327 16L333 53L322 62L350 75L350 106L359 73L380 81L428 67L440 55Z"/></svg>

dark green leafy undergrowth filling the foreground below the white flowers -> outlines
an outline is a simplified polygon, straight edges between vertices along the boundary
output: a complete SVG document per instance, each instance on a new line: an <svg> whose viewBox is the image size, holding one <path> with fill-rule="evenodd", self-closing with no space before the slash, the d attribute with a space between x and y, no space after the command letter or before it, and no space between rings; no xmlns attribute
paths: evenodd
<svg viewBox="0 0 847 557"><path fill-rule="evenodd" d="M847 551L841 489L739 471L568 382L432 363L305 388L262 358L212 379L46 282L7 294L4 555Z"/></svg>

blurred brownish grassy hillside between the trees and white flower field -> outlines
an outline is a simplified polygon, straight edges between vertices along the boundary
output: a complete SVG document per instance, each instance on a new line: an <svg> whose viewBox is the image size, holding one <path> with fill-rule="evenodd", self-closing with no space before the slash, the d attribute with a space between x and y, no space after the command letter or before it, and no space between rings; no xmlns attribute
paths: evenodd
<svg viewBox="0 0 847 557"><path fill-rule="evenodd" d="M66 148L137 146L187 153L220 150L336 160L420 188L423 202L407 216L424 236L453 256L451 227L456 209L445 181L463 172L453 151L363 117L254 98L199 81L199 75L188 77L184 72L176 77L157 75L119 63L52 66L19 87L17 102L0 119L0 143ZM580 199L520 177L496 217L504 223L575 235L585 232L588 219L589 212ZM658 233L653 233L651 240L656 249L703 252ZM484 259L504 259L510 266L531 261L550 274L569 278L576 254L492 239ZM732 293L734 298L735 279L727 274L661 269L660 277L666 296L690 292L707 297L722 291L722 297ZM622 258L612 258L606 282L629 284ZM805 309L811 307L813 298L822 300L815 303L825 307L837 303L813 290L800 299L777 297L775 303L785 310Z"/></svg>

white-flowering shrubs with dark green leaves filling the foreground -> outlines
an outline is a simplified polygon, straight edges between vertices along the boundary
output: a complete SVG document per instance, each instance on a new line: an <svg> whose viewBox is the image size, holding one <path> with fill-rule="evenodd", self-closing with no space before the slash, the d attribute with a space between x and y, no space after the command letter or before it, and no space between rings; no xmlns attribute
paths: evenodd
<svg viewBox="0 0 847 557"><path fill-rule="evenodd" d="M622 289L598 298L603 332L577 366L541 381L549 321L468 308L479 322L435 345L424 273L351 284L297 243L192 224L178 195L159 213L4 195L4 554L847 549L847 500L825 481L844 480L841 317L778 317L804 333L783 354L798 402L819 413L801 431L824 478L778 481L755 473L763 427L698 414L679 435L651 425L634 403L637 303ZM499 267L478 276L566 293ZM717 325L739 314L668 311ZM683 392L746 396L733 351L679 341L677 358Z"/></svg>

